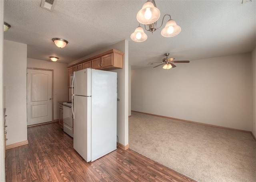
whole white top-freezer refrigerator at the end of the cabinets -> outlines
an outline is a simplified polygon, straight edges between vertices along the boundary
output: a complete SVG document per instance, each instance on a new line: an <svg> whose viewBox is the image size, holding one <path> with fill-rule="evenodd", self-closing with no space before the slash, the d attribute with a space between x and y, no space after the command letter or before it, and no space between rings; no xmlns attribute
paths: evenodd
<svg viewBox="0 0 256 182"><path fill-rule="evenodd" d="M72 87L74 149L94 161L116 149L117 73L76 71Z"/></svg>

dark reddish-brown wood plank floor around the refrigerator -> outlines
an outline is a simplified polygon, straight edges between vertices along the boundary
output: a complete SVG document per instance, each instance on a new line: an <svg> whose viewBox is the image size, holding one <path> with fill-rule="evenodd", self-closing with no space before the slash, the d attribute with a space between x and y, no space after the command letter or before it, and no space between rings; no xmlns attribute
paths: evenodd
<svg viewBox="0 0 256 182"><path fill-rule="evenodd" d="M6 151L6 182L194 182L130 149L86 162L58 123L28 127L28 145Z"/></svg>

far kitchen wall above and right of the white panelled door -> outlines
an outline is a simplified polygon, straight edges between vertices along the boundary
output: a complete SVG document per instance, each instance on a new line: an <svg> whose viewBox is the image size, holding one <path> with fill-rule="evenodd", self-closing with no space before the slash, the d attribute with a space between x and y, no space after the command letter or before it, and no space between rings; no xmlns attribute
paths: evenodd
<svg viewBox="0 0 256 182"><path fill-rule="evenodd" d="M54 99L54 120L59 119L59 101L68 100L68 73L67 73L67 64L44 61L39 59L27 59L27 67L30 68L43 68L51 69L53 71L53 92L52 96Z"/></svg>

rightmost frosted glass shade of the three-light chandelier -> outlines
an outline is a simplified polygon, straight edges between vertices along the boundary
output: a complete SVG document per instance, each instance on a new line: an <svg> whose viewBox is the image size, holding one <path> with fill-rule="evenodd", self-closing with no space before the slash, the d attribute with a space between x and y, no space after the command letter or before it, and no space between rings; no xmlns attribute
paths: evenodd
<svg viewBox="0 0 256 182"><path fill-rule="evenodd" d="M161 35L164 37L174 37L178 35L181 31L180 26L176 24L174 20L169 20L165 27L161 31Z"/></svg>

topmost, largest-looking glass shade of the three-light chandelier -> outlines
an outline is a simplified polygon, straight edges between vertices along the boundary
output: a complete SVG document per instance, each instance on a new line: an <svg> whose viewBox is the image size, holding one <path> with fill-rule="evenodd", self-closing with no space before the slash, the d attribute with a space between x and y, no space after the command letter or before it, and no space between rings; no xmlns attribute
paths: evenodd
<svg viewBox="0 0 256 182"><path fill-rule="evenodd" d="M137 13L137 20L142 24L149 25L160 18L160 11L150 1L146 2Z"/></svg>

